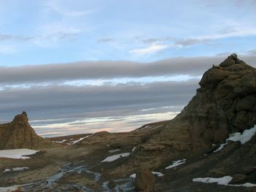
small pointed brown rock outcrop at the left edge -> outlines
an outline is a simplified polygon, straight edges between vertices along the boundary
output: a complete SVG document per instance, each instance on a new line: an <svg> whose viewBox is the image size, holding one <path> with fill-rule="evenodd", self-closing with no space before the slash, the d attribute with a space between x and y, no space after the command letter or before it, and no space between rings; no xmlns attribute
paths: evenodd
<svg viewBox="0 0 256 192"><path fill-rule="evenodd" d="M16 115L11 123L0 125L0 150L49 147L53 144L39 137L29 125L26 112Z"/></svg>

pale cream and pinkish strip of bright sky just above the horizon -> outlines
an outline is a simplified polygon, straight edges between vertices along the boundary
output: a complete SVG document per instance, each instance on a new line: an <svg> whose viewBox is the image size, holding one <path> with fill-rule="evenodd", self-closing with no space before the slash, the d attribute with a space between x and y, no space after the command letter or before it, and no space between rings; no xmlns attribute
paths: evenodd
<svg viewBox="0 0 256 192"><path fill-rule="evenodd" d="M86 118L68 123L49 123L44 126L31 126L42 137L59 137L72 134L94 134L98 131L126 132L132 131L147 123L171 120L179 112L160 112L143 115L127 115L103 118Z"/></svg>

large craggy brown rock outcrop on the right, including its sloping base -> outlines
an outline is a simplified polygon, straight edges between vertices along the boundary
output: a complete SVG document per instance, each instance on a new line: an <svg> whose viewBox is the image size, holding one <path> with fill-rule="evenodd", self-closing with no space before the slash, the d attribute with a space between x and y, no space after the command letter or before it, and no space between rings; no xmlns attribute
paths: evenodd
<svg viewBox="0 0 256 192"><path fill-rule="evenodd" d="M256 69L236 54L208 69L199 85L187 107L166 126L152 130L155 134L138 147L137 155L155 154L161 164L181 154L206 153L229 134L256 124Z"/></svg>

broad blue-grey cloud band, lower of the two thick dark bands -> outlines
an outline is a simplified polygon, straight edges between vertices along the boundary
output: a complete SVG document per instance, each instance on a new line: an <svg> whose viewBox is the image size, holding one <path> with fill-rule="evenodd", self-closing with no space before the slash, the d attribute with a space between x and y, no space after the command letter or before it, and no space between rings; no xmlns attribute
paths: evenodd
<svg viewBox="0 0 256 192"><path fill-rule="evenodd" d="M23 110L29 112L31 119L145 114L148 111L143 110L148 108L187 104L195 94L197 82L9 88L0 92L1 120ZM168 110L162 108L162 111Z"/></svg>

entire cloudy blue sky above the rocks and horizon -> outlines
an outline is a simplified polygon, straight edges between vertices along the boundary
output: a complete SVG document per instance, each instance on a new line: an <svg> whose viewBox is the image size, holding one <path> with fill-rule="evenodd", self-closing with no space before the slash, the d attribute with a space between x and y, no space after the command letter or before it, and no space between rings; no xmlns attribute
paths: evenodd
<svg viewBox="0 0 256 192"><path fill-rule="evenodd" d="M0 0L0 122L42 137L175 117L231 53L256 66L254 0Z"/></svg>

